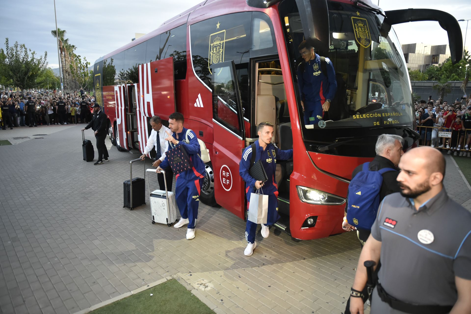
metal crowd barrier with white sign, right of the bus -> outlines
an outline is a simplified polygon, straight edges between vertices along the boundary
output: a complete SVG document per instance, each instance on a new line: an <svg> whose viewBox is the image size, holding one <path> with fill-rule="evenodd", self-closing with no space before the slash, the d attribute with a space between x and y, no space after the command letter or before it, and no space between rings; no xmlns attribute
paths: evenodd
<svg viewBox="0 0 471 314"><path fill-rule="evenodd" d="M417 125L417 132L419 132L421 135L419 146L427 146L427 133L430 132L431 136L429 146L435 147L436 149L456 150L458 145L461 145L460 152L463 151L466 153L471 153L471 148L470 150L464 149L468 137L471 136L471 129L465 129L463 135L463 133L460 131L454 131L445 127L442 127L441 130L439 130L439 126ZM423 135L422 132L424 133ZM443 145L443 147L440 147L441 145ZM450 146L449 149L447 148L447 145ZM471 142L469 143L468 147L470 146Z"/></svg>

